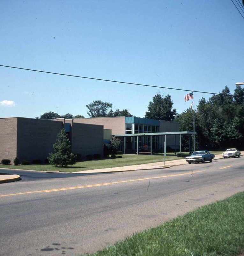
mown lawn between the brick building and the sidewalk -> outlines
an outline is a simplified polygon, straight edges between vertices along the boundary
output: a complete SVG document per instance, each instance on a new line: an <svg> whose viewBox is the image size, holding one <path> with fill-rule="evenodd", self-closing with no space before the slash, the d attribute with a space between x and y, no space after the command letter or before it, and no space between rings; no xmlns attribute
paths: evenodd
<svg viewBox="0 0 244 256"><path fill-rule="evenodd" d="M222 153L222 152L221 152ZM214 154L220 154L214 153ZM165 157L165 161L184 159L185 157L175 156L174 153L169 153ZM154 154L154 155L130 155L125 154L122 155L122 158L103 158L99 160L90 160L90 161L82 161L77 162L73 166L68 167L54 167L50 164L30 164L30 165L4 165L0 164L0 168L7 169L21 169L21 170L34 170L34 171L59 171L59 172L79 172L86 170L94 170L94 169L103 169L103 168L113 168L119 166L129 166L135 164L149 164L156 162L163 162L164 155L162 154Z"/></svg>

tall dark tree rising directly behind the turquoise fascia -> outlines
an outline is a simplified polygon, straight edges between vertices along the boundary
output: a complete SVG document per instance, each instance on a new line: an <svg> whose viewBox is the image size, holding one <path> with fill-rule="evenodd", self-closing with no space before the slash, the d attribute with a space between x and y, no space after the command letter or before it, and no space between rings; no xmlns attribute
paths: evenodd
<svg viewBox="0 0 244 256"><path fill-rule="evenodd" d="M145 113L145 118L173 121L176 117L176 109L173 108L173 101L168 94L163 96L157 93L152 97L152 101L149 102L148 111Z"/></svg>

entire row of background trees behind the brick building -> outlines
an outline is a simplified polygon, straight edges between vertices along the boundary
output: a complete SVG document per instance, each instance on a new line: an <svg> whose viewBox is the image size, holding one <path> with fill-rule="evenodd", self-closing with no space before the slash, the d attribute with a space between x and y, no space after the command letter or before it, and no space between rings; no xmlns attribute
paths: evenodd
<svg viewBox="0 0 244 256"><path fill-rule="evenodd" d="M92 101L86 108L89 117L133 116L127 109L113 110L112 103L101 100ZM84 118L70 113L60 116L54 112L47 112L36 118L56 117ZM188 108L178 114L169 94L163 96L157 93L153 96L144 117L179 122L180 131L193 131L193 109ZM201 98L195 109L195 131L196 149L244 149L244 89L238 85L231 95L230 89L225 86L222 92L214 94L209 100ZM189 136L182 136L184 150L189 150L189 139Z"/></svg>

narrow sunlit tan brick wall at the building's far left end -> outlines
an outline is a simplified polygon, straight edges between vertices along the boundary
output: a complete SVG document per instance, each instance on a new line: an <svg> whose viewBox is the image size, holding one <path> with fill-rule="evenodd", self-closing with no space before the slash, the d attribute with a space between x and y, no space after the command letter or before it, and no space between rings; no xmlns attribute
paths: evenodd
<svg viewBox="0 0 244 256"><path fill-rule="evenodd" d="M17 117L0 118L0 161L17 156Z"/></svg>

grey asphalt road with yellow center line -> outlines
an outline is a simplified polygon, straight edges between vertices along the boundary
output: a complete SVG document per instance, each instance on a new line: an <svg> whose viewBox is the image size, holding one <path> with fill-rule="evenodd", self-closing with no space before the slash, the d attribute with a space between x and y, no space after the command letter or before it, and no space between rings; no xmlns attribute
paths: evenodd
<svg viewBox="0 0 244 256"><path fill-rule="evenodd" d="M244 157L105 174L8 171L0 184L0 255L96 252L244 190Z"/></svg>

